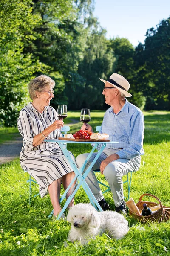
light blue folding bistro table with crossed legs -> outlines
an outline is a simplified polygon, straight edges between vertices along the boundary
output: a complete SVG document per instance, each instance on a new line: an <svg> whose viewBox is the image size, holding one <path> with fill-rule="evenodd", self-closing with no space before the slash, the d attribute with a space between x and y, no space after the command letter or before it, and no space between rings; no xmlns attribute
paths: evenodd
<svg viewBox="0 0 170 256"><path fill-rule="evenodd" d="M59 215L57 217L57 220L59 220L59 218L62 216L62 214L64 213L65 209L68 207L68 204L71 202L72 198L74 198L74 195L76 194L76 192L77 192L77 190L79 189L80 186L82 186L83 189L85 190L85 193L87 194L88 198L90 199L91 204L95 208L97 207L99 209L99 211L102 211L102 208L100 207L99 203L97 202L96 198L94 197L93 193L91 192L91 189L89 188L88 184L86 183L85 178L87 177L88 173L90 172L90 170L92 169L92 167L96 163L97 159L99 158L99 156L102 153L103 149L105 148L106 144L108 144L108 143L112 144L112 143L118 143L118 142L117 141L114 141L114 142L99 142L99 141L91 142L91 141L88 141L88 140L87 141L73 141L73 140L57 140L57 139L51 139L51 140L45 140L45 141L46 142L53 142L53 143L56 142L56 143L59 144L62 152L64 153L65 157L67 158L68 162L70 163L70 165L73 168L74 173L75 173L74 179L71 181L68 188L65 190L64 194L60 198L60 203L64 200L64 198L67 195L67 193L68 193L69 189L71 188L72 184L77 179L75 189L71 193L71 195L68 197L64 207L62 208L62 211L59 213ZM86 158L84 164L82 165L82 167L80 169L77 168L76 163L74 163L74 160L71 158L71 156L70 156L70 154L67 150L67 143L72 143L72 144L75 144L75 145L76 144L91 144L91 143L93 143L94 147L91 149L91 152L89 153L88 157ZM84 172L85 165L86 165L87 161L90 159L91 155L94 153L95 149L97 148L97 146L99 144L102 144L101 149L96 154L96 157L94 158L91 165Z"/></svg>

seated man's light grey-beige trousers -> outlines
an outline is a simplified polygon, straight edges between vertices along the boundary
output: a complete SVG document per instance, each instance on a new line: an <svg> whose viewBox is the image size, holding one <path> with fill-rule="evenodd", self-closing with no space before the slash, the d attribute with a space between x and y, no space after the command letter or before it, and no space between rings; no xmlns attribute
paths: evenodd
<svg viewBox="0 0 170 256"><path fill-rule="evenodd" d="M119 149L105 148L85 179L85 181L87 182L89 188L91 189L97 201L102 200L104 196L102 195L102 191L99 187L99 183L97 182L96 176L93 171L99 170L101 162L105 160L106 157L118 151ZM76 162L77 162L78 168L80 168L82 164L85 162L88 154L89 153L81 154L77 157ZM92 154L91 158L88 160L86 164L85 170L94 160L94 157L96 156L96 154L97 153ZM132 159L124 159L124 158L117 159L109 163L105 167L103 174L105 175L105 179L108 181L108 184L113 193L113 200L116 207L119 207L124 201L122 177L129 172L138 171L140 164L141 164L141 156L136 156L136 157L133 157Z"/></svg>

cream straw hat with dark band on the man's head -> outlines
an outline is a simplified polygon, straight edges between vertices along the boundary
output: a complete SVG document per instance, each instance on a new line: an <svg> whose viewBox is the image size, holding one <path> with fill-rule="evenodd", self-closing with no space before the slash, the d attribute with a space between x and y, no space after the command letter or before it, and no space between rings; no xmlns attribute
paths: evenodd
<svg viewBox="0 0 170 256"><path fill-rule="evenodd" d="M101 78L99 78L102 82L106 83L108 82L109 84L111 84L113 87L116 87L119 91L121 91L123 94L125 94L126 97L131 97L132 95L130 93L128 93L127 91L130 88L130 84L129 82L125 79L125 77L117 74L117 73L113 73L109 79L103 80Z"/></svg>

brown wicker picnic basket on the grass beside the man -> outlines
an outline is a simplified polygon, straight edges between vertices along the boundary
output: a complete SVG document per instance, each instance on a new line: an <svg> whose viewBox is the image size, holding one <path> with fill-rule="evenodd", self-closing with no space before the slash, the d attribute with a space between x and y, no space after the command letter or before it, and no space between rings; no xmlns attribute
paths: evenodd
<svg viewBox="0 0 170 256"><path fill-rule="evenodd" d="M162 205L159 198L157 198L155 195L152 195L152 194L143 194L143 195L141 195L141 197L139 198L139 202L136 204L139 211L143 209L143 204L144 203L147 204L147 207L153 207L153 206L158 205L154 202L142 201L142 198L146 195L151 196L153 198L156 198L156 200L159 202L161 208L158 209L156 212L154 212L153 214L151 214L149 216L137 215L136 213L131 212L129 210L130 215L133 215L134 218L138 219L142 223L145 223L145 222L148 222L148 221L149 222L157 221L158 223L163 222L163 221L164 222L168 221L170 219L170 207L166 207L166 206Z"/></svg>

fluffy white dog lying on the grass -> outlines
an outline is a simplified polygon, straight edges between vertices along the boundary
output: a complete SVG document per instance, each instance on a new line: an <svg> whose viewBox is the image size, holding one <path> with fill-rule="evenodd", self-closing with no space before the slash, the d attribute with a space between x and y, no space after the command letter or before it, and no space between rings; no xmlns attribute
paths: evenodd
<svg viewBox="0 0 170 256"><path fill-rule="evenodd" d="M125 217L117 212L97 212L91 204L77 204L68 212L67 220L71 223L68 241L88 243L91 238L107 232L108 236L120 239L129 231Z"/></svg>

